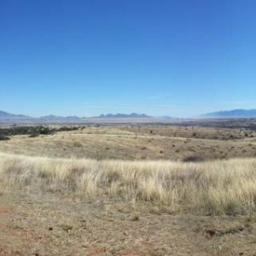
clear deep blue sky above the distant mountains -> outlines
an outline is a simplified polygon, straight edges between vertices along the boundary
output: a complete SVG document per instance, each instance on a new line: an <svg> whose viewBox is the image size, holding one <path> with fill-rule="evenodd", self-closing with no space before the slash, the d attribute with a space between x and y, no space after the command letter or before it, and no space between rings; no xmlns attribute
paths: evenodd
<svg viewBox="0 0 256 256"><path fill-rule="evenodd" d="M1 0L0 109L256 108L254 0Z"/></svg>

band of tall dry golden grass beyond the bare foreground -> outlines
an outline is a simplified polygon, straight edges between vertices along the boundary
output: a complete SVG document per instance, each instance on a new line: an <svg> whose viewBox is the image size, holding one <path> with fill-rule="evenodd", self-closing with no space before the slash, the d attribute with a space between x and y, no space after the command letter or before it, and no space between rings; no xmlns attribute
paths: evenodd
<svg viewBox="0 0 256 256"><path fill-rule="evenodd" d="M212 214L255 212L256 160L67 160L0 154L1 189L52 191Z"/></svg>

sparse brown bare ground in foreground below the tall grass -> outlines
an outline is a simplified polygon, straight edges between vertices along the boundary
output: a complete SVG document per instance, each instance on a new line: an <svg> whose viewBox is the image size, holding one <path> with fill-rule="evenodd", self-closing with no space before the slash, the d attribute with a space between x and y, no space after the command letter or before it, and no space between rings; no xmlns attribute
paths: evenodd
<svg viewBox="0 0 256 256"><path fill-rule="evenodd" d="M252 217L250 217L252 218ZM147 205L4 193L0 255L256 255L249 217L155 213Z"/></svg>

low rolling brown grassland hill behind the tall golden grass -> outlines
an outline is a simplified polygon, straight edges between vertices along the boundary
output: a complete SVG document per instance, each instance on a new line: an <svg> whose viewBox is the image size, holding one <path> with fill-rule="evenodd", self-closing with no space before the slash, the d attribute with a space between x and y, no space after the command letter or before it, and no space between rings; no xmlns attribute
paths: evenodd
<svg viewBox="0 0 256 256"><path fill-rule="evenodd" d="M191 137L193 132L200 137ZM96 160L202 161L255 157L255 138L242 137L243 133L240 129L171 125L85 126L83 130L61 131L50 136L10 137L9 141L1 141L0 152ZM230 139L230 135L234 138Z"/></svg>

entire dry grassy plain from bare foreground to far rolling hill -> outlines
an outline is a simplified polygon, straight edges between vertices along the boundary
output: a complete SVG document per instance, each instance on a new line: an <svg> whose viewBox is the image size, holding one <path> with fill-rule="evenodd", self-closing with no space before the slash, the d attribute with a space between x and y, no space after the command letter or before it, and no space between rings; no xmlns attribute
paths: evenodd
<svg viewBox="0 0 256 256"><path fill-rule="evenodd" d="M251 122L8 136L0 255L256 255Z"/></svg>

